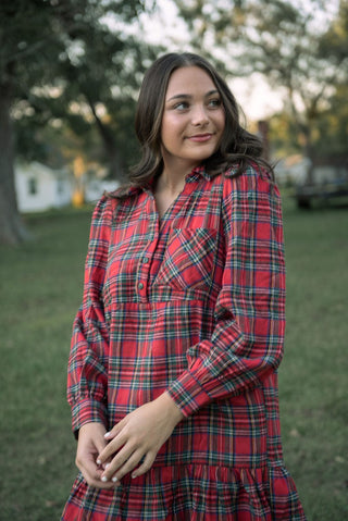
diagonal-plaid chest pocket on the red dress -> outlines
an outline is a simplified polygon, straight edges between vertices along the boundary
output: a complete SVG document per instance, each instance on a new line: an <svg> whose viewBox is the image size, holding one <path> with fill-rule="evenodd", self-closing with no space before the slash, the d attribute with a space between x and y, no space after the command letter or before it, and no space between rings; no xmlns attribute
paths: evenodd
<svg viewBox="0 0 348 521"><path fill-rule="evenodd" d="M216 230L174 228L156 285L174 289L209 289L216 253Z"/></svg>

